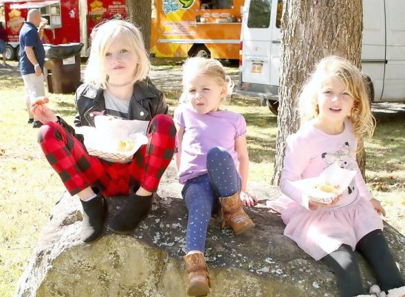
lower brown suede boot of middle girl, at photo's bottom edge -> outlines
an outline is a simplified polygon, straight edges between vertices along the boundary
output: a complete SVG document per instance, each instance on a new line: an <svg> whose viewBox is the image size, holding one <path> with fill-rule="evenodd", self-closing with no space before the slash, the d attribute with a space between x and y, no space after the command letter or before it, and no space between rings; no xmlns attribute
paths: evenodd
<svg viewBox="0 0 405 297"><path fill-rule="evenodd" d="M188 274L188 296L206 296L210 292L211 283L204 254L186 254L183 258Z"/></svg>

